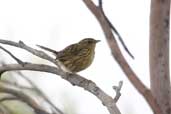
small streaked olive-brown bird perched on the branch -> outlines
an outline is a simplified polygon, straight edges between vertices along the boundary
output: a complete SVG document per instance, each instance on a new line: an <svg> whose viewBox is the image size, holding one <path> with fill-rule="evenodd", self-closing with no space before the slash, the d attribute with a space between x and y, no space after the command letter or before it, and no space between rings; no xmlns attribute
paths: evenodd
<svg viewBox="0 0 171 114"><path fill-rule="evenodd" d="M71 72L79 72L89 67L93 62L96 43L99 41L93 38L85 38L59 52L44 46L37 46L55 54L56 60L62 62Z"/></svg>

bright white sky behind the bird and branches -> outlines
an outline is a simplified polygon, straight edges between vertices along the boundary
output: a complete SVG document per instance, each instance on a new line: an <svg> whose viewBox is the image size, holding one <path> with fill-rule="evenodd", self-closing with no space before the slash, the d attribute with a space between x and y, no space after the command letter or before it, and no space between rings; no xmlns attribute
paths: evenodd
<svg viewBox="0 0 171 114"><path fill-rule="evenodd" d="M122 53L148 87L149 9L149 0L104 0L106 15L122 36L135 60L132 60L120 45ZM97 44L93 64L79 74L94 81L112 97L115 95L112 86L122 80L122 96L117 102L121 113L152 114L146 101L113 59L98 21L82 0L0 0L1 39L22 40L35 48L36 44L40 44L61 50L87 37L101 42ZM43 61L26 51L16 48L10 50L22 60L36 63ZM4 57L8 58L8 63L15 62L7 55ZM49 64L47 61L44 63ZM95 96L82 88L73 87L59 76L28 71L25 73L61 110L72 106L76 109L76 114L109 113Z"/></svg>

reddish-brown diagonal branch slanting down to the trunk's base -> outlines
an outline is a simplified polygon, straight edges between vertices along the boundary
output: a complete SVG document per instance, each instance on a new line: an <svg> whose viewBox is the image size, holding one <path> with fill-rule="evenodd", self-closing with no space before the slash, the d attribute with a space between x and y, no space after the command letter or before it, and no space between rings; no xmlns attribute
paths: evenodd
<svg viewBox="0 0 171 114"><path fill-rule="evenodd" d="M99 21L102 30L105 34L106 40L108 42L108 45L111 49L112 55L114 59L118 62L120 67L122 68L123 72L127 76L127 78L131 81L131 83L134 85L134 87L138 90L138 92L143 95L147 103L150 105L151 109L155 114L162 114L162 111L156 101L156 99L153 97L150 89L148 89L138 78L138 76L134 73L134 71L131 69L125 58L123 57L118 44L115 40L115 37L111 31L111 27L109 26L104 14L102 13L101 9L96 6L91 0L83 0L87 8L93 13L93 15L96 17L96 19Z"/></svg>

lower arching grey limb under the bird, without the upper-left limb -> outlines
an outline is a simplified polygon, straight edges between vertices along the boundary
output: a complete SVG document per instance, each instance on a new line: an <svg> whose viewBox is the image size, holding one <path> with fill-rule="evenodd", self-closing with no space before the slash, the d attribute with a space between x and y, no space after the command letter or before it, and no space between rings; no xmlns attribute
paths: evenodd
<svg viewBox="0 0 171 114"><path fill-rule="evenodd" d="M101 90L94 82L91 80L87 80L84 77L78 74L71 74L63 72L56 67L49 66L49 65L40 65L40 64L26 64L24 66L18 64L8 64L0 67L0 72L5 71L14 71L14 70L31 70L31 71L41 71L41 72L48 72L52 74L56 74L61 78L67 80L72 85L77 85L79 87L84 88L85 90L89 91L90 93L94 94L104 106L107 107L111 114L120 114L114 99L107 95L103 90Z"/></svg>

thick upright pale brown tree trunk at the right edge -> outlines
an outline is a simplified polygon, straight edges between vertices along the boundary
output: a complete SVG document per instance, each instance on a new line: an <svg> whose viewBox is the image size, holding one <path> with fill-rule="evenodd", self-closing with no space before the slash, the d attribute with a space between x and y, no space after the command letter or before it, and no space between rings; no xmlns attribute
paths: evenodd
<svg viewBox="0 0 171 114"><path fill-rule="evenodd" d="M151 0L151 91L161 107L163 114L171 114L169 75L169 16L170 0Z"/></svg>

